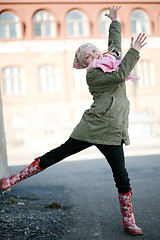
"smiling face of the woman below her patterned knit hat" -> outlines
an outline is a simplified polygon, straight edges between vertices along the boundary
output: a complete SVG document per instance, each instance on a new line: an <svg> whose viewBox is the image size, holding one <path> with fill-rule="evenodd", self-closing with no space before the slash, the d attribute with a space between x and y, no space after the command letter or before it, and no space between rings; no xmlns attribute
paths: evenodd
<svg viewBox="0 0 160 240"><path fill-rule="evenodd" d="M100 50L96 47L90 47L85 53L85 62L89 65L93 59L102 58L103 55Z"/></svg>

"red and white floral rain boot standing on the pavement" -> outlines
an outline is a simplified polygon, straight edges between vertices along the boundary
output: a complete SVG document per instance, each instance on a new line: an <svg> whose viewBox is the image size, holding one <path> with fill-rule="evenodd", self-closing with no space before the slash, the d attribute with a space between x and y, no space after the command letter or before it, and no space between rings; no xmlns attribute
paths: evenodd
<svg viewBox="0 0 160 240"><path fill-rule="evenodd" d="M125 232L131 235L141 235L141 228L137 227L133 208L131 203L132 188L128 193L118 193L120 209L123 216L123 224Z"/></svg>

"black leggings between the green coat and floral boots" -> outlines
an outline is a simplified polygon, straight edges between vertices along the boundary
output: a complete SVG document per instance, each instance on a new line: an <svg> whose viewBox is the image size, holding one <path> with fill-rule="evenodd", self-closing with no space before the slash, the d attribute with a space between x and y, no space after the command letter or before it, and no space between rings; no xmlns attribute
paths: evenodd
<svg viewBox="0 0 160 240"><path fill-rule="evenodd" d="M78 153L90 146L95 145L100 152L105 156L109 165L111 166L116 187L120 193L127 193L130 191L130 179L125 168L123 142L121 146L92 144L85 141L79 141L69 138L60 147L57 147L50 152L40 157L40 168L45 169L64 158Z"/></svg>

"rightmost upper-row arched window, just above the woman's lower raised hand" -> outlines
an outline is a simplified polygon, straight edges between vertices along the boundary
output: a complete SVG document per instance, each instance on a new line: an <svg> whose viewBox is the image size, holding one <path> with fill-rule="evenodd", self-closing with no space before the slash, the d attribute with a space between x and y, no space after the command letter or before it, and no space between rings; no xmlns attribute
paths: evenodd
<svg viewBox="0 0 160 240"><path fill-rule="evenodd" d="M150 24L147 14L142 10L134 10L130 17L132 34L150 33Z"/></svg>

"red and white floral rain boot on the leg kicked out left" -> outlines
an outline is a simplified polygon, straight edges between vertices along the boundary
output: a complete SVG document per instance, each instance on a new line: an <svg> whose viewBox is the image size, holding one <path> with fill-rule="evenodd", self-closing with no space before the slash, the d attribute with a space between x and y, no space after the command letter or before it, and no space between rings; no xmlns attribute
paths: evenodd
<svg viewBox="0 0 160 240"><path fill-rule="evenodd" d="M40 157L36 158L28 167L24 168L19 173L15 173L7 178L0 179L0 190L6 191L8 188L12 187L14 184L23 181L24 179L31 177L44 169L39 167Z"/></svg>

